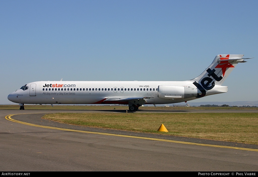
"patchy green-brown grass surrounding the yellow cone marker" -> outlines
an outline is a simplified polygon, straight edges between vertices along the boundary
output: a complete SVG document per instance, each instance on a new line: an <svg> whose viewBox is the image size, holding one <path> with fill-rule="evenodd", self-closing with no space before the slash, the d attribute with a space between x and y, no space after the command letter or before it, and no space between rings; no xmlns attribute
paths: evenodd
<svg viewBox="0 0 258 177"><path fill-rule="evenodd" d="M43 118L72 125L258 145L258 113L54 113ZM157 131L161 124L168 132Z"/></svg>

